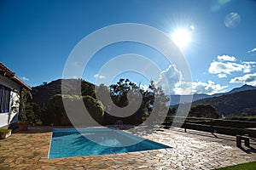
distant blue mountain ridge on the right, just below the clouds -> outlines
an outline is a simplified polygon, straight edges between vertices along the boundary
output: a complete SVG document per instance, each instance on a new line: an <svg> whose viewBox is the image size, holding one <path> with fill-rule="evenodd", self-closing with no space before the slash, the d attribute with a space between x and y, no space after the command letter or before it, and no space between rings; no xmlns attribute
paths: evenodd
<svg viewBox="0 0 256 170"><path fill-rule="evenodd" d="M212 95L208 95L208 94L193 94L193 99L192 101L196 101L199 99L207 99L207 98L213 98L213 97L218 97L218 96L222 96L225 94L234 94L237 92L242 92L242 91L246 91L246 90L255 90L256 87L254 86L250 86L250 85L243 85L240 88L233 88L232 90L230 90L230 92L227 93L222 93L222 94L212 94ZM184 97L184 102L188 102L188 100L186 100L186 95L183 95ZM180 103L180 98L181 95L171 95L171 104L170 105L177 105Z"/></svg>

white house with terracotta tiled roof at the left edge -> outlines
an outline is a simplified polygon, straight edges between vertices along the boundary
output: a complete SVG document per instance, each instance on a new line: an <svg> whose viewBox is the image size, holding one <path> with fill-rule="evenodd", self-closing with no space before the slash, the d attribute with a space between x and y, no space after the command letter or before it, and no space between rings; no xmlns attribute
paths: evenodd
<svg viewBox="0 0 256 170"><path fill-rule="evenodd" d="M15 72L0 62L0 128L9 127L18 121L19 111L14 108L19 108L19 94L22 88L32 90L15 77Z"/></svg>

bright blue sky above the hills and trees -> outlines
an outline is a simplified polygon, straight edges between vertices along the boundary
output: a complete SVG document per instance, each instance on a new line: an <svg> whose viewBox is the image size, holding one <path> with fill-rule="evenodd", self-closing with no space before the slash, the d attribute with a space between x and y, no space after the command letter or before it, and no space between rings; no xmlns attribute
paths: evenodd
<svg viewBox="0 0 256 170"><path fill-rule="evenodd" d="M137 23L153 26L171 39L178 30L189 32L190 41L180 51L193 78L193 82L184 83L192 84L194 93L225 92L244 83L256 86L255 8L252 0L2 0L0 61L28 85L38 86L61 78L73 48L93 31ZM162 74L172 75L174 68L159 52L136 42L122 42L102 48L90 60L83 78L89 82L95 82L96 77L104 79L97 74L102 65L114 56L129 53L147 56L160 66ZM119 77L148 84L146 77L134 72ZM185 92L178 85L173 90L176 94Z"/></svg>

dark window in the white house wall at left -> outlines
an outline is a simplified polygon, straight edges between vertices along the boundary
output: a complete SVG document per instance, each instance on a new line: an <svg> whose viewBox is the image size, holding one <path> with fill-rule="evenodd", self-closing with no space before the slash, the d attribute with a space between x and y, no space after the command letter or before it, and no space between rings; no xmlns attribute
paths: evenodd
<svg viewBox="0 0 256 170"><path fill-rule="evenodd" d="M0 85L0 113L9 112L10 89Z"/></svg>

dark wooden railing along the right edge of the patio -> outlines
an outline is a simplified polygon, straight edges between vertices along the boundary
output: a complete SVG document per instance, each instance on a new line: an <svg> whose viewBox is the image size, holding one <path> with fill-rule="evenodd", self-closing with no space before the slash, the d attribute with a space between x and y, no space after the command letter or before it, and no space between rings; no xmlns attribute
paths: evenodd
<svg viewBox="0 0 256 170"><path fill-rule="evenodd" d="M175 118L175 119L174 119ZM185 129L194 129L209 133L224 133L230 135L245 134L248 127L256 127L256 122L212 119L204 117L182 117L182 116L166 116L163 123L165 127L182 127ZM252 137L256 137L255 133L250 133Z"/></svg>

